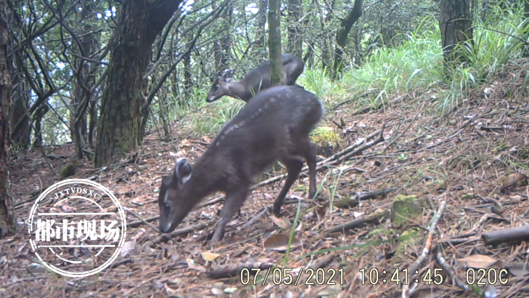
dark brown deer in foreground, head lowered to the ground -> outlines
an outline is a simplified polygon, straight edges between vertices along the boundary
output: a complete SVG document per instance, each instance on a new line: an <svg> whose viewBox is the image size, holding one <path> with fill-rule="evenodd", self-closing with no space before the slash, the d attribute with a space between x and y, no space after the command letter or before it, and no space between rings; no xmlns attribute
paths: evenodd
<svg viewBox="0 0 529 298"><path fill-rule="evenodd" d="M169 233L204 197L226 194L212 241L221 240L226 224L251 193L253 177L272 162L287 167L287 179L273 203L277 216L303 160L309 169L309 196L316 194L316 148L309 133L323 116L318 97L295 86L279 85L261 91L224 125L207 151L191 166L176 161L171 175L162 178L158 204L160 231Z"/></svg>

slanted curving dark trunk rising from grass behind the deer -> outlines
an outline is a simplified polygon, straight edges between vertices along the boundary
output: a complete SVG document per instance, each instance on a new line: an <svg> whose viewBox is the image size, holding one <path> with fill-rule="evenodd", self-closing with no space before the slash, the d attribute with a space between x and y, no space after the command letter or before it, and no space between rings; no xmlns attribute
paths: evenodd
<svg viewBox="0 0 529 298"><path fill-rule="evenodd" d="M353 8L340 23L340 29L336 34L336 47L334 48L333 78L337 78L343 69L343 49L347 43L347 37L351 27L362 16L362 0L355 0Z"/></svg>

